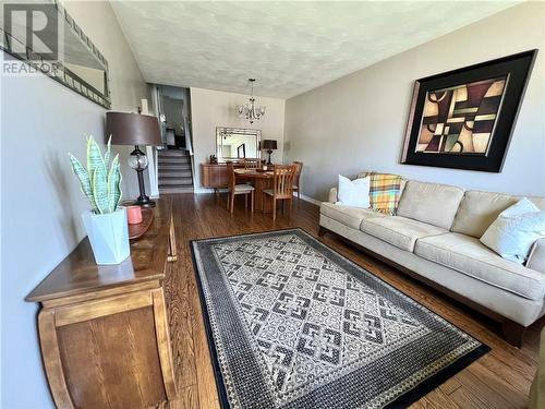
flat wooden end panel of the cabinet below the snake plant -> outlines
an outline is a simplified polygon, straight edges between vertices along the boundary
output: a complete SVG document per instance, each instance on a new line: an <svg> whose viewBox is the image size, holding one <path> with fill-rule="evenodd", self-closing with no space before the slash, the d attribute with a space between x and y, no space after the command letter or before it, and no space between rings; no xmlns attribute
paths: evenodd
<svg viewBox="0 0 545 409"><path fill-rule="evenodd" d="M39 314L59 408L141 408L175 396L162 289Z"/></svg>

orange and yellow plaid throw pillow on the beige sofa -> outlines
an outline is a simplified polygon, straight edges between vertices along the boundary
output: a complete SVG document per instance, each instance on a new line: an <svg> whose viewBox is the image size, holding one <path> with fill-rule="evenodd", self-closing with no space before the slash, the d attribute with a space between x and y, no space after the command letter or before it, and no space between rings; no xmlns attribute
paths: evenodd
<svg viewBox="0 0 545 409"><path fill-rule="evenodd" d="M371 179L371 207L386 215L395 215L398 210L401 193L401 180L398 175L367 172Z"/></svg>

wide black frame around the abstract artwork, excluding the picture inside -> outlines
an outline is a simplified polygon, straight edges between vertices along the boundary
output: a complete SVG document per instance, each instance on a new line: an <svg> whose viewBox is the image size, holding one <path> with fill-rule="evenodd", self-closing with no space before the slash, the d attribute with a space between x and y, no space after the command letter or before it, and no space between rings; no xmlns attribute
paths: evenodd
<svg viewBox="0 0 545 409"><path fill-rule="evenodd" d="M537 49L416 80L401 164L501 172ZM486 153L416 152L428 92L506 77ZM465 120L464 120L465 121ZM463 149L463 147L462 147Z"/></svg>

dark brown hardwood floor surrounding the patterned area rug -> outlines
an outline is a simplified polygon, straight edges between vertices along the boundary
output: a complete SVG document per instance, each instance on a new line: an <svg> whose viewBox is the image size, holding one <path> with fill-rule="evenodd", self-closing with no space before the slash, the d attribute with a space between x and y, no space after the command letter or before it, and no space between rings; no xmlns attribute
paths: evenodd
<svg viewBox="0 0 545 409"><path fill-rule="evenodd" d="M217 236L301 227L317 237L318 207L295 201L293 215L271 215L244 209L242 201L234 214L226 208L226 195L175 194L173 214L178 261L171 263L166 279L178 382L178 399L162 408L218 408L208 342L202 317L201 301L193 270L190 240ZM446 298L342 242L334 234L319 238L362 267L390 282L416 301L492 347L492 351L458 375L415 402L412 408L525 408L530 384L537 364L542 320L526 332L524 345L517 349L499 336L500 326L468 308Z"/></svg>

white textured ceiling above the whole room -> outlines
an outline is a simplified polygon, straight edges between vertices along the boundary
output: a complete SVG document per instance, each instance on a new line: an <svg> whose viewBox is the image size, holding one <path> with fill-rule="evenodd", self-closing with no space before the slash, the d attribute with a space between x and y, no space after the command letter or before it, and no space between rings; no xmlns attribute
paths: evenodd
<svg viewBox="0 0 545 409"><path fill-rule="evenodd" d="M288 98L511 7L506 1L112 1L146 81ZM445 50L448 52L448 50Z"/></svg>

